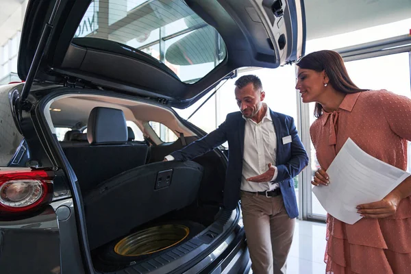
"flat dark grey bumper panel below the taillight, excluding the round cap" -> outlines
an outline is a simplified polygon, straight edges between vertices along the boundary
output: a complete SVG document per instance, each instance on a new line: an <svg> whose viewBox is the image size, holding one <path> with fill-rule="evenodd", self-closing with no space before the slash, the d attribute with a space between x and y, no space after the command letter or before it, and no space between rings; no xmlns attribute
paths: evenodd
<svg viewBox="0 0 411 274"><path fill-rule="evenodd" d="M60 273L60 235L53 208L27 219L0 221L1 273Z"/></svg>

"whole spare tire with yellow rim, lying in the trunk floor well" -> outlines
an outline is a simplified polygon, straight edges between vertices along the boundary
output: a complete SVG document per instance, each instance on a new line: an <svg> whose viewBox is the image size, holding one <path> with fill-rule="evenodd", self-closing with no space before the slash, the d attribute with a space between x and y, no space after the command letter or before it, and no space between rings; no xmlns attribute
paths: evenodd
<svg viewBox="0 0 411 274"><path fill-rule="evenodd" d="M166 253L204 229L204 225L192 221L156 223L108 243L99 248L96 255L103 264L126 266Z"/></svg>

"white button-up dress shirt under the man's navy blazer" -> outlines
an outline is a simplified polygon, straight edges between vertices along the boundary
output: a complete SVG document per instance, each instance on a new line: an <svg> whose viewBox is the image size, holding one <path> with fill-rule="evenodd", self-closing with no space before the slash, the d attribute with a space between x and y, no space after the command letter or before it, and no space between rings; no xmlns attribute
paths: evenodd
<svg viewBox="0 0 411 274"><path fill-rule="evenodd" d="M275 167L275 159L277 157L277 135L271 119L269 107L266 107L266 114L260 123L256 123L251 119L245 119L244 132L244 153L242 157L242 178L241 190L249 192L258 192L266 190L274 190L279 187L278 183L272 182L277 178L277 168ZM172 161L172 155L166 155L167 160ZM247 178L261 175L269 170L269 163L275 168L275 173L271 182L249 182Z"/></svg>

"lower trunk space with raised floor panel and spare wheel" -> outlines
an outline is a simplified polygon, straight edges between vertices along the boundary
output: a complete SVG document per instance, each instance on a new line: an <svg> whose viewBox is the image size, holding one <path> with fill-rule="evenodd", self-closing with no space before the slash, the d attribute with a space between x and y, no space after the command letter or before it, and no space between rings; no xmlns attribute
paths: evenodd
<svg viewBox="0 0 411 274"><path fill-rule="evenodd" d="M199 158L199 162L210 161L210 157ZM157 166L161 168L153 169ZM153 264L166 266L190 253L199 256L216 238L232 232L238 210L208 203L215 197L207 197L208 176L203 173L212 171L195 162L154 162L105 180L85 195L95 269L107 273L131 267L145 273ZM196 180L192 173L197 172L201 177ZM118 182L125 174L131 180ZM156 190L158 182L164 183L159 178L162 174L171 175L170 185Z"/></svg>

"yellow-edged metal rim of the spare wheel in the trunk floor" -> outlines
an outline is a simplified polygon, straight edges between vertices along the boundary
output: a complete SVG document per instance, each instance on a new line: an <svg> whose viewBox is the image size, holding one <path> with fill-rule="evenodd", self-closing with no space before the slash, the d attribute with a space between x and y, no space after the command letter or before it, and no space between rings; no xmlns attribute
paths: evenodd
<svg viewBox="0 0 411 274"><path fill-rule="evenodd" d="M121 256L142 256L168 249L187 238L190 229L184 225L159 225L131 234L114 247Z"/></svg>

